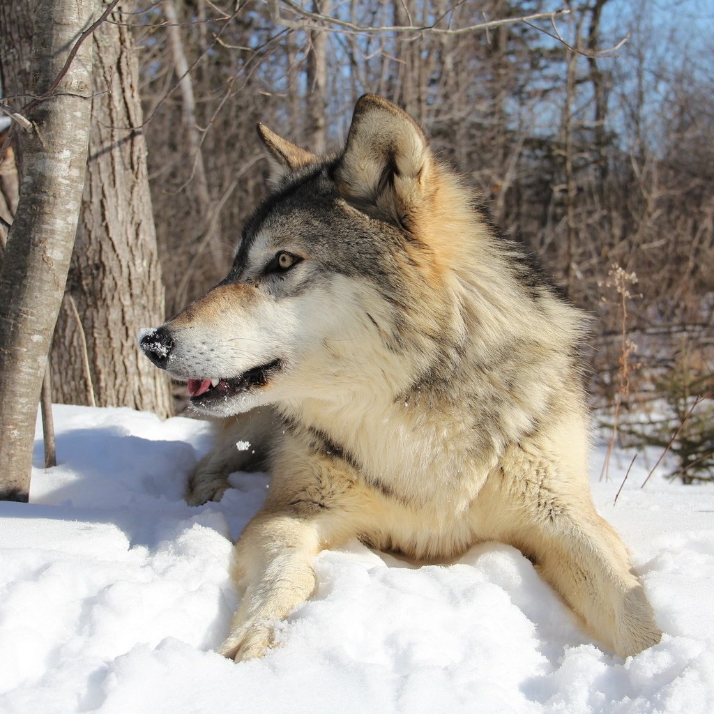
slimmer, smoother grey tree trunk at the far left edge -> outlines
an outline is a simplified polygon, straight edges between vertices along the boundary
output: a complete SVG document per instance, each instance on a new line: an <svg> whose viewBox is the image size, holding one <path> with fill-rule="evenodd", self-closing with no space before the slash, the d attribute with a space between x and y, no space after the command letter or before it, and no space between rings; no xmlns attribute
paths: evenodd
<svg viewBox="0 0 714 714"><path fill-rule="evenodd" d="M32 8L34 81L26 91L41 97L88 25L94 2L15 1L12 6L3 26L10 34L14 21ZM25 109L33 126L21 130L20 198L0 271L0 498L5 500L29 496L40 388L84 186L90 92L91 43L85 41L51 96Z"/></svg>

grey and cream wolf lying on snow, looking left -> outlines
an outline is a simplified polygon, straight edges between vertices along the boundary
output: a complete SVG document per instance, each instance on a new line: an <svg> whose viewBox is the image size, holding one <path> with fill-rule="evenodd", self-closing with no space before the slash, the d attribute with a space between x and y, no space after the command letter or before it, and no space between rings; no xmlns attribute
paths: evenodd
<svg viewBox="0 0 714 714"><path fill-rule="evenodd" d="M219 651L264 655L316 589L313 556L352 538L431 561L511 544L607 648L657 643L590 496L583 313L385 99L358 100L332 156L258 134L271 191L230 272L140 335L193 408L230 418L188 503L221 498L231 471L271 476Z"/></svg>

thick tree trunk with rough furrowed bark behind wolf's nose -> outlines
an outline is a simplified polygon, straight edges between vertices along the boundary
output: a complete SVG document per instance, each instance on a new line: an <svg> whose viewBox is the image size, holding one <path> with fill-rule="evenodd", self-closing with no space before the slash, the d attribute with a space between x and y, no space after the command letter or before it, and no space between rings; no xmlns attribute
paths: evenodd
<svg viewBox="0 0 714 714"><path fill-rule="evenodd" d="M131 11L133 3L122 3ZM120 20L119 10L115 20ZM89 41L89 40L88 40ZM55 401L171 416L169 381L136 348L136 333L164 319L164 286L146 171L146 143L131 28L105 22L92 36L89 162L67 293L51 353ZM74 300L74 306L69 300ZM81 319L81 325L77 319Z"/></svg>

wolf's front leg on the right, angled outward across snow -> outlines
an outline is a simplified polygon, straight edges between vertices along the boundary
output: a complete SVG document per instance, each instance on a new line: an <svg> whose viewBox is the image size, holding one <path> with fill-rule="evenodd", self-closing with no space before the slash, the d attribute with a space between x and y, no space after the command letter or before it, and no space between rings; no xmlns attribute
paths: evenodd
<svg viewBox="0 0 714 714"><path fill-rule="evenodd" d="M520 507L511 511L519 521L513 544L533 556L543 578L615 653L627 657L658 643L661 632L625 545L598 516L587 482L582 491L563 488L543 468L523 483L514 499Z"/></svg>

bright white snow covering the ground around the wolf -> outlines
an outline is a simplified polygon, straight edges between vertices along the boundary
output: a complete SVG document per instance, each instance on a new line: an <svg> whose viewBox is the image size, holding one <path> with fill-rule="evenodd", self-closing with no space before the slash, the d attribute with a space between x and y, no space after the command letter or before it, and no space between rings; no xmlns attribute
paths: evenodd
<svg viewBox="0 0 714 714"><path fill-rule="evenodd" d="M630 457L607 483L593 458L665 630L634 658L601 650L506 545L416 568L353 542L318 555L281 648L235 665L213 652L238 600L230 539L266 478L235 474L221 503L189 508L205 423L69 406L55 421L60 465L41 468L38 441L31 504L0 503L2 713L714 711L713 488L640 488L635 463L613 506Z"/></svg>

